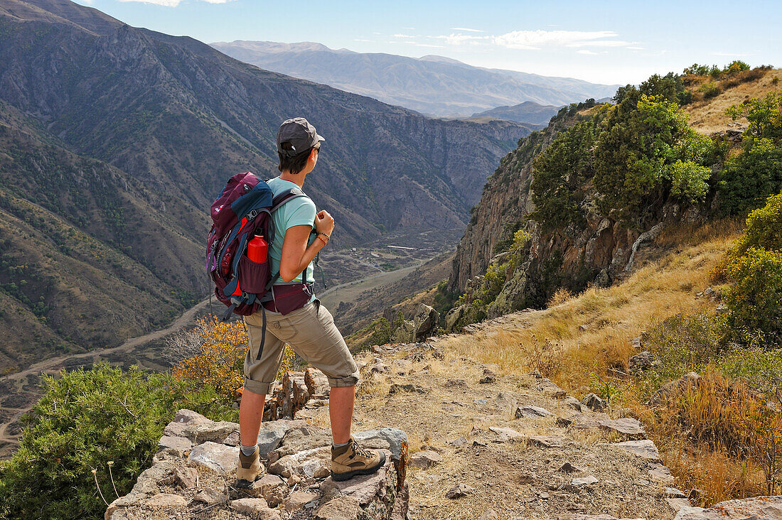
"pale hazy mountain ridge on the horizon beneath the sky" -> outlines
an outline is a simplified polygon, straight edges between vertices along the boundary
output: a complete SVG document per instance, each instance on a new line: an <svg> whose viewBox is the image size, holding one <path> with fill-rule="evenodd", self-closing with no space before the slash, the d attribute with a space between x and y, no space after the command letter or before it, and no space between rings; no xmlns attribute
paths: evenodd
<svg viewBox="0 0 782 520"><path fill-rule="evenodd" d="M486 69L443 56L415 59L344 48L334 50L313 42L239 40L211 45L263 69L368 95L436 117L468 117L525 101L563 106L614 95L620 86Z"/></svg>

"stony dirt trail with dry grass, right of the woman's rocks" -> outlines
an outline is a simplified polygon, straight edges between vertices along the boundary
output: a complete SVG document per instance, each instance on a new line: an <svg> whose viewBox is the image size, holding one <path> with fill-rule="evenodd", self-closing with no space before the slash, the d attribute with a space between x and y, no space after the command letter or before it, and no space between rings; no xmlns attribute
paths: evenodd
<svg viewBox="0 0 782 520"><path fill-rule="evenodd" d="M673 518L665 500L673 477L651 455L654 444L643 429L612 429L640 423L580 407L548 379L503 373L443 343L433 343L443 345L437 350L379 347L357 358L363 382L355 429L407 432L412 518ZM328 425L328 406L304 417ZM618 444L628 439L649 448L644 457ZM448 498L458 484L470 490Z"/></svg>

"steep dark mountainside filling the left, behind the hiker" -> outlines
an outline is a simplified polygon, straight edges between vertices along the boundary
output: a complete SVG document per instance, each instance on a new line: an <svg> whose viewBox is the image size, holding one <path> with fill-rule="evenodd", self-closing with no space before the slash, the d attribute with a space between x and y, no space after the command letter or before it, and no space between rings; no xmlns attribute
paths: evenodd
<svg viewBox="0 0 782 520"><path fill-rule="evenodd" d="M205 296L206 207L231 174L276 174L274 134L299 115L328 140L307 191L335 215L335 249L463 226L529 133L431 120L66 0L0 0L0 282L18 315L3 321L18 360L0 366L26 364L17 347L116 345Z"/></svg>

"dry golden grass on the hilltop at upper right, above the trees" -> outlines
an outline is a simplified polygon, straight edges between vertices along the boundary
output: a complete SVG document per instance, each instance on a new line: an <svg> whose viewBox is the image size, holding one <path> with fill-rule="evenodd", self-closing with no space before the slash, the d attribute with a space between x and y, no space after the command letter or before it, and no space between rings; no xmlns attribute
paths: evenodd
<svg viewBox="0 0 782 520"><path fill-rule="evenodd" d="M777 84L774 84L774 78ZM782 90L782 69L773 69L757 81L741 83L727 88L712 99L694 102L684 106L684 111L690 116L690 125L701 134L725 130L733 120L725 115L725 110L749 98L760 98L769 92ZM746 123L746 121L740 121Z"/></svg>

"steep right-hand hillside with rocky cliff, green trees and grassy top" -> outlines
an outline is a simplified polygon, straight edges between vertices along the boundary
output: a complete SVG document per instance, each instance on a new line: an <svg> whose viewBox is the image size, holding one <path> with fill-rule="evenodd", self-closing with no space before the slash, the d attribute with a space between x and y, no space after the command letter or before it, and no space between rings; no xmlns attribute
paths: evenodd
<svg viewBox="0 0 782 520"><path fill-rule="evenodd" d="M775 90L778 73L768 67L725 72L724 93L710 98L698 90L708 78L653 76L640 88L619 89L616 106L561 109L487 181L448 282L449 292L475 303L454 309L447 324L458 328L483 313L544 307L559 288L610 285L630 274L638 249L665 226L719 213L719 176L746 127L726 127L723 116L722 131L712 138L698 134L699 125L715 112L709 106L722 115L731 103L726 99L743 101L738 92L762 97ZM677 99L687 100L683 109ZM536 168L540 175L533 175ZM545 207L536 207L540 200Z"/></svg>

